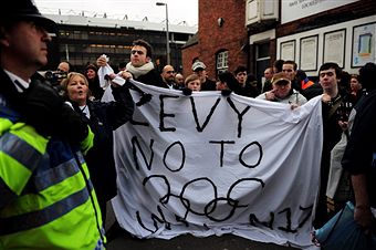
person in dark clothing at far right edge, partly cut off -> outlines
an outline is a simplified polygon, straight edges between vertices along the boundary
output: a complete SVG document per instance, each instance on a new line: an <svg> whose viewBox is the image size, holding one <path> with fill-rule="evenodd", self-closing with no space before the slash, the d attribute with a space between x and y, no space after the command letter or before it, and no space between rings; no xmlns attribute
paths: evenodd
<svg viewBox="0 0 376 250"><path fill-rule="evenodd" d="M376 64L366 63L359 70L359 82L366 90L354 107L356 116L352 127L342 166L352 176L355 195L354 220L366 233L376 227Z"/></svg>

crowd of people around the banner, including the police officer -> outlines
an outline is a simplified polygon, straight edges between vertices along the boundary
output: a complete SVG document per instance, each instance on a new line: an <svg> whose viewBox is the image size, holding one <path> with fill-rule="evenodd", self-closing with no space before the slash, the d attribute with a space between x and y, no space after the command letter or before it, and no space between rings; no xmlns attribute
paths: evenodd
<svg viewBox="0 0 376 250"><path fill-rule="evenodd" d="M129 62L122 62L116 73L105 55L83 73L61 62L56 69L66 77L59 80L58 91L38 75L48 63L55 23L31 0L8 4L0 15L0 249L105 248L106 202L116 195L113 131L132 119L135 106L129 93L135 86L125 84L129 79L185 94L233 92L292 108L321 95L324 143L313 226L321 228L352 200L355 221L365 233L375 232L374 63L349 75L327 62L314 82L295 62L276 60L265 69L263 83L242 65L212 81L201 61L192 63L186 77L173 65L157 72L152 46L136 40ZM106 92L114 101L101 102ZM336 164L347 173L338 181L348 192L345 198L328 197L333 148L344 135L346 146Z"/></svg>

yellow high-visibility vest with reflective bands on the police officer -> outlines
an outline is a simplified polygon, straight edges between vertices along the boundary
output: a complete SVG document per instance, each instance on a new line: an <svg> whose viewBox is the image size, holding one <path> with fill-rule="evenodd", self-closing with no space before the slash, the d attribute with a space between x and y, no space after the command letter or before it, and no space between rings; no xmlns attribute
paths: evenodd
<svg viewBox="0 0 376 250"><path fill-rule="evenodd" d="M1 104L0 249L103 249L102 216L80 149L42 137ZM82 146L92 143L90 132Z"/></svg>

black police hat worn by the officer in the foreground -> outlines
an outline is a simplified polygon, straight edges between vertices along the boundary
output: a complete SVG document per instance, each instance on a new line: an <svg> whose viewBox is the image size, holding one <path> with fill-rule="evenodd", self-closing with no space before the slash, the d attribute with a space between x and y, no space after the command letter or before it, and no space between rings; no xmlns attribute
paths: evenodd
<svg viewBox="0 0 376 250"><path fill-rule="evenodd" d="M8 7L3 6L0 10L0 20L31 20L50 33L56 32L56 23L43 17L33 0L13 0L9 1L7 6Z"/></svg>

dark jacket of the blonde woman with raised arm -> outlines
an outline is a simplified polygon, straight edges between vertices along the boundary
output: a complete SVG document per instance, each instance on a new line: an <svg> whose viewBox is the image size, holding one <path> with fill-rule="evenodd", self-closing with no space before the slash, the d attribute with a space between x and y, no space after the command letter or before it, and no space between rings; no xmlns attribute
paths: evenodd
<svg viewBox="0 0 376 250"><path fill-rule="evenodd" d="M114 102L87 101L88 124L94 133L94 146L85 156L91 179L100 202L116 195L116 170L113 157L113 131L132 118L134 102L125 86L113 87Z"/></svg>

